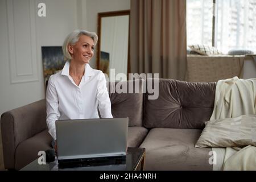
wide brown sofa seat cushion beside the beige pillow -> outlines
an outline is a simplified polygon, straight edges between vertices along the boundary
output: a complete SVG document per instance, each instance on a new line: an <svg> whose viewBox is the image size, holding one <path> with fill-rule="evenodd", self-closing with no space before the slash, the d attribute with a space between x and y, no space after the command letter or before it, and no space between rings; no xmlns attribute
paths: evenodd
<svg viewBox="0 0 256 182"><path fill-rule="evenodd" d="M195 148L201 130L151 129L140 147L146 148L146 170L210 170L211 148Z"/></svg>

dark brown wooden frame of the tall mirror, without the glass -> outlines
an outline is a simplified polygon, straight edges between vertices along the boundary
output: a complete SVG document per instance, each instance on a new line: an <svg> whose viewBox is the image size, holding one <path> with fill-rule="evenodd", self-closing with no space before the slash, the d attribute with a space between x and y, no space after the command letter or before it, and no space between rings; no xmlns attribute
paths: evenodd
<svg viewBox="0 0 256 182"><path fill-rule="evenodd" d="M101 18L109 17L109 16L122 16L129 15L129 31L128 31L128 55L127 55L127 78L130 73L130 10L122 10L122 11L109 11L104 13L98 13L98 43L97 43L97 56L96 56L96 64L97 69L100 69L100 48L101 48Z"/></svg>

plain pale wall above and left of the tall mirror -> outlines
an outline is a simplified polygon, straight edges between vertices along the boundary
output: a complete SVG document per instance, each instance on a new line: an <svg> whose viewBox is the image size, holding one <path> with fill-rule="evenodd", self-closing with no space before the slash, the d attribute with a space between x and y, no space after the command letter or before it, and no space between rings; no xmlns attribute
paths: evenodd
<svg viewBox="0 0 256 182"><path fill-rule="evenodd" d="M97 33L98 13L120 10L130 10L130 0L86 0L86 30ZM96 68L96 54L90 66Z"/></svg>

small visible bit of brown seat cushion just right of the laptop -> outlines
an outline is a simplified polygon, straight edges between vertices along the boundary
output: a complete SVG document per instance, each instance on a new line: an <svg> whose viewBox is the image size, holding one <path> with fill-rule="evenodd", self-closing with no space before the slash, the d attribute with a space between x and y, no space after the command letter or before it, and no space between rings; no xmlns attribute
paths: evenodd
<svg viewBox="0 0 256 182"><path fill-rule="evenodd" d="M139 147L146 137L148 130L142 126L130 126L128 128L128 147Z"/></svg>

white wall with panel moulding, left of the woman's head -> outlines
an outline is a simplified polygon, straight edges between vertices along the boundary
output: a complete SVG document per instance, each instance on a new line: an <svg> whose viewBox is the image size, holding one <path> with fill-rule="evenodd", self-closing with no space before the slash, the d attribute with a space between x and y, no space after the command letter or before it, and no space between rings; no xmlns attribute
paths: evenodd
<svg viewBox="0 0 256 182"><path fill-rule="evenodd" d="M40 2L46 17L37 15ZM76 0L0 0L0 114L45 98L41 46L61 46L77 21Z"/></svg>

